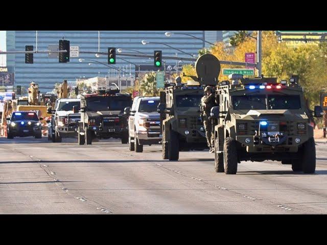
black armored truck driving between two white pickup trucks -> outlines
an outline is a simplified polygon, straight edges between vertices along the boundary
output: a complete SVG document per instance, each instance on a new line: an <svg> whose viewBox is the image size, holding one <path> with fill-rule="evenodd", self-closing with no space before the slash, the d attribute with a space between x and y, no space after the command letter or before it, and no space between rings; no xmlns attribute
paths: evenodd
<svg viewBox="0 0 327 245"><path fill-rule="evenodd" d="M78 126L79 144L91 144L94 138L120 138L128 143L128 115L125 107L132 105L130 94L118 89L81 94L81 121Z"/></svg>

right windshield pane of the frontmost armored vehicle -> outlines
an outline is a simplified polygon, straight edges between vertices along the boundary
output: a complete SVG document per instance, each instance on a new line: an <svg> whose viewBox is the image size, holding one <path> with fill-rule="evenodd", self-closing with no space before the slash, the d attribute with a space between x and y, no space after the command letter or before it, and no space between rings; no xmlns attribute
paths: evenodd
<svg viewBox="0 0 327 245"><path fill-rule="evenodd" d="M299 95L268 95L268 109L298 110L301 109Z"/></svg>

